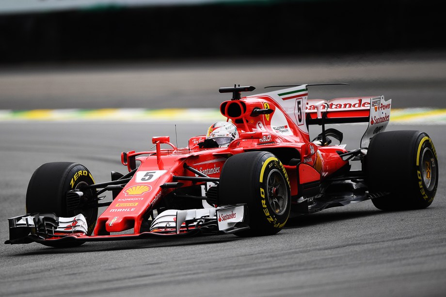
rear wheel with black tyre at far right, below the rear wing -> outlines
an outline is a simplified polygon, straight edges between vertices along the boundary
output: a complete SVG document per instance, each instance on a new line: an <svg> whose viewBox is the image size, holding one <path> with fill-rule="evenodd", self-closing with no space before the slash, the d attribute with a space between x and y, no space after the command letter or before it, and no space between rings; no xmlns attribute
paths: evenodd
<svg viewBox="0 0 446 297"><path fill-rule="evenodd" d="M424 132L389 131L375 135L365 166L369 191L390 193L372 199L381 210L426 208L435 197L437 154Z"/></svg>

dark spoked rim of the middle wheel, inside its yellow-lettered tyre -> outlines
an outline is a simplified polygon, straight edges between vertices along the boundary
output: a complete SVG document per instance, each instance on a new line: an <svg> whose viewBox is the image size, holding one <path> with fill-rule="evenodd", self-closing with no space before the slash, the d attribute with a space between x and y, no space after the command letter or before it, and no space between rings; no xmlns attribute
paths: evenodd
<svg viewBox="0 0 446 297"><path fill-rule="evenodd" d="M287 210L288 190L286 181L280 171L274 169L267 179L268 201L276 215L282 215Z"/></svg>

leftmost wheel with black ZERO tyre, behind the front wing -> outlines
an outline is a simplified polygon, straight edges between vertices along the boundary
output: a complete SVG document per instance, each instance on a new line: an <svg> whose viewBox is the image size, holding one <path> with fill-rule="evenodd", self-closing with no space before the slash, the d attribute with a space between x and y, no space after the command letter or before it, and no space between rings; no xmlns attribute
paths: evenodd
<svg viewBox="0 0 446 297"><path fill-rule="evenodd" d="M93 233L97 219L97 206L94 208L67 210L66 192L81 185L95 183L90 171L83 165L71 162L46 163L32 174L26 192L26 212L54 213L58 217L74 217L84 215L88 224L88 235ZM96 198L96 189L84 192L87 200ZM97 205L97 202L96 202ZM51 247L74 247L83 242L44 243Z"/></svg>

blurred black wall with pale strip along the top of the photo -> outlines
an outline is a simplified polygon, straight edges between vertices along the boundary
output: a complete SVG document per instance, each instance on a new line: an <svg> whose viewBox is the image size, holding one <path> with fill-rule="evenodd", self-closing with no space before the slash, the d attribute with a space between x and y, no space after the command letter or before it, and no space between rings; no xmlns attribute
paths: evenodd
<svg viewBox="0 0 446 297"><path fill-rule="evenodd" d="M436 0L2 0L0 62L444 50Z"/></svg>

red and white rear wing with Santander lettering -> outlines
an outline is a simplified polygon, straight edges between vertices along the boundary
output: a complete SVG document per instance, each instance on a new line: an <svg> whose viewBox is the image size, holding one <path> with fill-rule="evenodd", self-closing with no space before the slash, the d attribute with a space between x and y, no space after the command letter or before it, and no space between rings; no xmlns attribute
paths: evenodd
<svg viewBox="0 0 446 297"><path fill-rule="evenodd" d="M309 99L306 104L306 124L326 125L368 123L361 139L361 148L367 148L376 134L385 130L390 121L392 100L384 96L335 98L332 100Z"/></svg>

